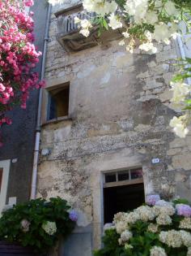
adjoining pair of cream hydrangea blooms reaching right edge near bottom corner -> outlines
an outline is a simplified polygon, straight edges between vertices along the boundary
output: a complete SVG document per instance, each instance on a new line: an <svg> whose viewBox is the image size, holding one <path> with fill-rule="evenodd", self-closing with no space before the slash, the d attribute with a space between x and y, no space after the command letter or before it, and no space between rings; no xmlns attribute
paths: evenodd
<svg viewBox="0 0 191 256"><path fill-rule="evenodd" d="M172 248L179 248L182 245L186 247L191 246L191 234L184 230L176 231L174 229L167 232L159 233L159 241Z"/></svg>

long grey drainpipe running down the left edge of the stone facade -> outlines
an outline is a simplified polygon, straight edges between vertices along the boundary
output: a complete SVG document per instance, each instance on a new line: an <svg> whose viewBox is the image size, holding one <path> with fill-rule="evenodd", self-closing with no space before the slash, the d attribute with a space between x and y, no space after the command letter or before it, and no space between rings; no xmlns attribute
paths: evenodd
<svg viewBox="0 0 191 256"><path fill-rule="evenodd" d="M45 41L42 55L42 67L40 73L40 80L45 78L45 60L47 52L47 44L49 41L49 21L51 15L51 5L49 4L46 26L45 26ZM32 188L31 188L31 199L36 197L36 180L37 180L37 169L38 169L38 158L39 158L39 148L40 148L40 116L41 116L41 106L42 106L42 88L39 92L39 103L38 103L38 114L36 122L36 139L35 139L35 150L34 150L34 159L33 159L33 168L32 168Z"/></svg>

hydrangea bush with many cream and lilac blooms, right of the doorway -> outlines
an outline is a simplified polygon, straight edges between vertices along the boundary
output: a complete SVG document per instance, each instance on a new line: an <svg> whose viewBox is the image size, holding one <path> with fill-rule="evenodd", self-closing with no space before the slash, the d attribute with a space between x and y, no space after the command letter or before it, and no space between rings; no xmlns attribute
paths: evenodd
<svg viewBox="0 0 191 256"><path fill-rule="evenodd" d="M117 213L103 241L95 256L191 256L191 207L148 196L145 206Z"/></svg>

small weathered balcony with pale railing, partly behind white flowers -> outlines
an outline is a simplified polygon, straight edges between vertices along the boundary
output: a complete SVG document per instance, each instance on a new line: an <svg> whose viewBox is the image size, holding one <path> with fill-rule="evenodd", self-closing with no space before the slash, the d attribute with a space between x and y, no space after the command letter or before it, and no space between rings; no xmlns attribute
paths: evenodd
<svg viewBox="0 0 191 256"><path fill-rule="evenodd" d="M80 20L91 20L96 16L96 13L83 11L82 5L59 11L55 15L57 17L57 41L68 52L77 52L94 46L108 45L109 41L121 38L120 29L104 31L98 37L98 27L96 25L91 28L89 37L83 37L79 33L78 25L74 24L74 17L77 16Z"/></svg>

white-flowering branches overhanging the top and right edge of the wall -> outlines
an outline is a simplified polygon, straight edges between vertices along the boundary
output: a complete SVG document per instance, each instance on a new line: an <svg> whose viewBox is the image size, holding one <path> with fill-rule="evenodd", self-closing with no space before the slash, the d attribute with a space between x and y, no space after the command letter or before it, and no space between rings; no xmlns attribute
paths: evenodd
<svg viewBox="0 0 191 256"><path fill-rule="evenodd" d="M64 0L48 0L52 4ZM184 23L187 33L190 29L191 1L190 0L83 0L85 12L95 12L96 17L74 22L79 24L79 33L88 37L91 28L99 27L98 35L105 30L121 31L120 46L130 53L138 48L143 53L155 54L159 43L169 45L177 36L182 36L180 24ZM183 70L172 82L172 105L177 111L170 122L172 131L178 137L184 138L191 123L190 86L185 83L191 77L191 59L184 59ZM182 112L184 112L182 114Z"/></svg>

